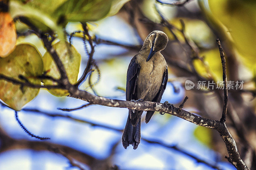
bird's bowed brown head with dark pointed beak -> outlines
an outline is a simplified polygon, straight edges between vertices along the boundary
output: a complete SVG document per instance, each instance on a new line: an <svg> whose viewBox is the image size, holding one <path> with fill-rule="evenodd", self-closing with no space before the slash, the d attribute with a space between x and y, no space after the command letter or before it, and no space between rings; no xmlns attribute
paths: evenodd
<svg viewBox="0 0 256 170"><path fill-rule="evenodd" d="M162 51L166 47L167 43L168 37L163 31L153 31L148 34L143 43L145 48L150 48L150 53L146 61L148 62L156 52Z"/></svg>

